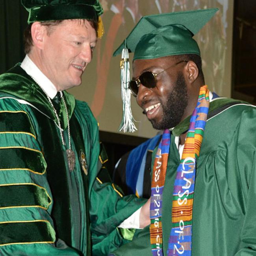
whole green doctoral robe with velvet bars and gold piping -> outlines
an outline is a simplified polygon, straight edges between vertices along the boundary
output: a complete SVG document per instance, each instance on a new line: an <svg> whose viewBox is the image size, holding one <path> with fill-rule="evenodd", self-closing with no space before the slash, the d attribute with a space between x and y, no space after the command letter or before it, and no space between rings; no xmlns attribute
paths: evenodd
<svg viewBox="0 0 256 256"><path fill-rule="evenodd" d="M63 97L74 171L45 93L19 65L0 76L0 255L108 255L127 241L117 226L143 204L106 182L91 110ZM63 100L58 112L68 145Z"/></svg>

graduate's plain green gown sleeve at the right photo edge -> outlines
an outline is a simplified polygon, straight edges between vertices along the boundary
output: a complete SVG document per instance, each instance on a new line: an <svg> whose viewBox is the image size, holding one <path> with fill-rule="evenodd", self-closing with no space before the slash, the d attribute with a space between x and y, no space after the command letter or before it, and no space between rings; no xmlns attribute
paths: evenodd
<svg viewBox="0 0 256 256"><path fill-rule="evenodd" d="M243 111L240 122L237 126L237 136L231 144L236 148L237 161L230 162L230 176L236 176L240 180L241 189L230 179L230 190L239 198L239 207L245 214L240 239L242 248L235 256L256 255L256 136L255 121L256 111L251 109ZM230 145L229 148L232 148ZM230 153L231 157L231 153ZM233 177L231 177L233 178ZM242 193L241 193L242 192Z"/></svg>

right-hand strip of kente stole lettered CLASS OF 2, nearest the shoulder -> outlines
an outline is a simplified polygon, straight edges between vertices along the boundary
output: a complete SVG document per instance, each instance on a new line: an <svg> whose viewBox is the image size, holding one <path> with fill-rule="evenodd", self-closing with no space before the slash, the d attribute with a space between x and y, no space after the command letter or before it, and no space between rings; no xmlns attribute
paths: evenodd
<svg viewBox="0 0 256 256"><path fill-rule="evenodd" d="M168 256L191 256L192 210L196 176L196 160L200 153L209 109L209 90L200 88L197 107L190 119L182 160L177 169L173 189L173 208Z"/></svg>

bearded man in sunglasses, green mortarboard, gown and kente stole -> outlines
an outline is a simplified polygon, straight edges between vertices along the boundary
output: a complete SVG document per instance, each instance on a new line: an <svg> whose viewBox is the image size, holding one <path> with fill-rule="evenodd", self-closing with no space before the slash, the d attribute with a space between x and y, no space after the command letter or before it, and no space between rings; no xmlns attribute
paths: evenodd
<svg viewBox="0 0 256 256"><path fill-rule="evenodd" d="M126 90L134 52L129 89L163 130L152 154L151 224L115 256L256 255L256 107L208 90L192 38L216 11L143 17L114 53L122 52Z"/></svg>

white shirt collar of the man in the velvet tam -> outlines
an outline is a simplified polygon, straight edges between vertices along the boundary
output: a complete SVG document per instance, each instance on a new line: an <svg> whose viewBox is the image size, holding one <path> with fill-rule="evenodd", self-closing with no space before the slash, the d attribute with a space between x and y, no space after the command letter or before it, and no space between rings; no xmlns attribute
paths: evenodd
<svg viewBox="0 0 256 256"><path fill-rule="evenodd" d="M54 84L43 74L43 72L33 63L33 61L26 55L20 67L32 77L33 80L45 91L45 93L53 99L57 94L57 89Z"/></svg>

